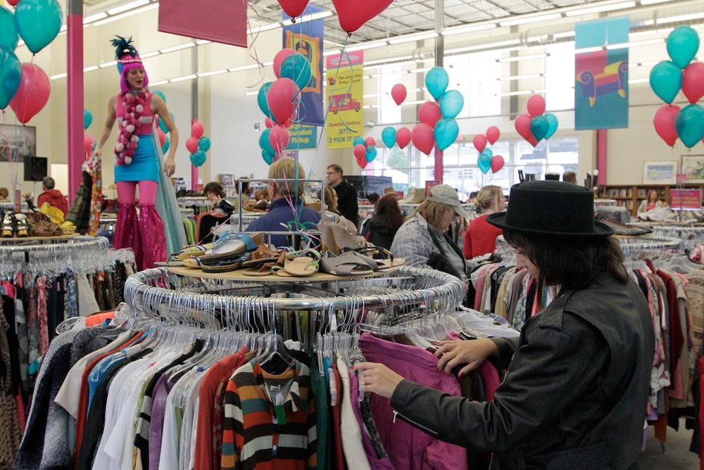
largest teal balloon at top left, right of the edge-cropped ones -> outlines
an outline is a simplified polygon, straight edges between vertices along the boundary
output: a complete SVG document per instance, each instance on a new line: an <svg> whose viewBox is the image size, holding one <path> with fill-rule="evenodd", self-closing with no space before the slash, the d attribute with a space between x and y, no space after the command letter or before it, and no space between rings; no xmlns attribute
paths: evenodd
<svg viewBox="0 0 704 470"><path fill-rule="evenodd" d="M22 0L15 6L15 27L32 53L54 41L62 22L63 13L56 0Z"/></svg>

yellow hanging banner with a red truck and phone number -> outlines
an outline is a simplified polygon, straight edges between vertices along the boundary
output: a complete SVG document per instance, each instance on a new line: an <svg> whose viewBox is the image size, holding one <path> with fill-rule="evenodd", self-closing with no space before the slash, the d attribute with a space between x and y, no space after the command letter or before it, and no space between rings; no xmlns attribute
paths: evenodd
<svg viewBox="0 0 704 470"><path fill-rule="evenodd" d="M364 132L364 51L327 57L327 148L352 148Z"/></svg>

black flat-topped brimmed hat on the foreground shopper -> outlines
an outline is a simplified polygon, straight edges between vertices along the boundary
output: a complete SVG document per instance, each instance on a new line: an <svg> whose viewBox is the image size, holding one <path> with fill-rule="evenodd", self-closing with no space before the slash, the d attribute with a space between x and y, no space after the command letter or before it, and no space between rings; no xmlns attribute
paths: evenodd
<svg viewBox="0 0 704 470"><path fill-rule="evenodd" d="M577 184L532 181L511 188L508 211L486 217L501 229L548 236L604 237L613 229L594 220L594 195Z"/></svg>

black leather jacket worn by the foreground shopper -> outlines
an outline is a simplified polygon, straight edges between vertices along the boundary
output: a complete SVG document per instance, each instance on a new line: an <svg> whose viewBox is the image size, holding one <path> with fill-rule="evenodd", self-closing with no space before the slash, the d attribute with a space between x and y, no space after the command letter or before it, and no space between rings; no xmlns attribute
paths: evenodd
<svg viewBox="0 0 704 470"><path fill-rule="evenodd" d="M562 291L517 341L496 340L508 374L492 402L403 381L398 417L494 453L494 469L627 469L643 442L653 322L633 283Z"/></svg>

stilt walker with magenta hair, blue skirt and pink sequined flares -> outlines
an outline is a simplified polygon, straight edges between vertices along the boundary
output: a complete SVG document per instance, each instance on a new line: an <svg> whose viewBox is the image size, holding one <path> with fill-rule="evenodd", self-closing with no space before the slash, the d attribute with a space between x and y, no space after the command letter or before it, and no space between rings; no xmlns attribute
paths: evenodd
<svg viewBox="0 0 704 470"><path fill-rule="evenodd" d="M100 134L95 155L101 154L115 121L118 140L115 143L115 184L118 188L118 222L115 224L113 247L132 248L140 270L166 260L167 241L172 249L185 242L180 212L168 177L176 170L175 153L178 130L169 115L166 103L149 91L149 77L142 59L134 49L132 38L113 39L115 58L120 70L120 93L108 101L108 118ZM154 120L158 115L171 134L171 146L163 167L158 155L161 149L154 139ZM139 186L139 216L135 205ZM168 194L170 191L171 194ZM159 214L155 204L164 214ZM164 217L168 220L164 220ZM166 228L165 228L166 227Z"/></svg>

